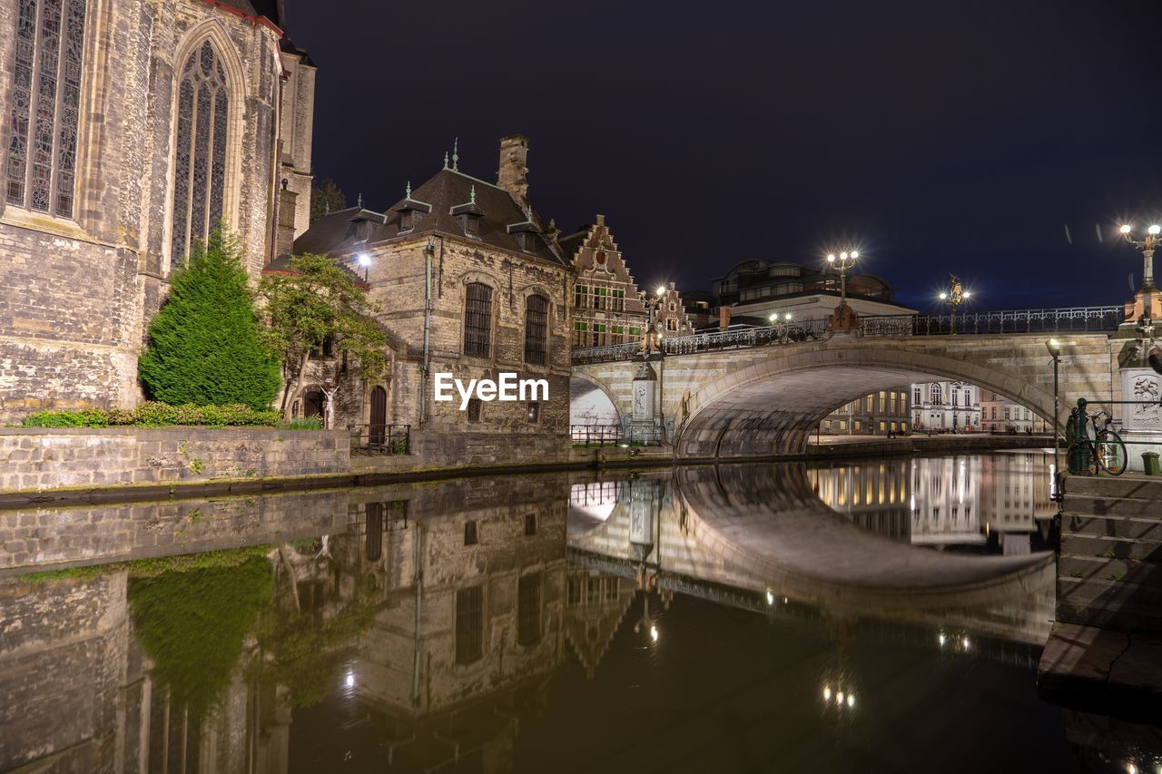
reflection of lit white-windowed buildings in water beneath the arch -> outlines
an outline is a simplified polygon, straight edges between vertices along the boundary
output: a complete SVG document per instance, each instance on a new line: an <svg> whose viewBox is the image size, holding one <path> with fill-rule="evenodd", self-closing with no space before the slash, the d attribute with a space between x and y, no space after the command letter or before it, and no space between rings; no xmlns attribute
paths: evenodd
<svg viewBox="0 0 1162 774"><path fill-rule="evenodd" d="M913 545L1023 554L1052 547L1052 452L885 459L808 475L853 523Z"/></svg>

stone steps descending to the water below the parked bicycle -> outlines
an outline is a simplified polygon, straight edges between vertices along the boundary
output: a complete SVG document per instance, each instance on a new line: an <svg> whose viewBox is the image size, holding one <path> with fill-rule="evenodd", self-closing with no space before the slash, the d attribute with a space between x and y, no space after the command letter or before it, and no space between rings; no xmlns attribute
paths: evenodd
<svg viewBox="0 0 1162 774"><path fill-rule="evenodd" d="M1069 476L1057 622L1162 632L1162 479Z"/></svg>

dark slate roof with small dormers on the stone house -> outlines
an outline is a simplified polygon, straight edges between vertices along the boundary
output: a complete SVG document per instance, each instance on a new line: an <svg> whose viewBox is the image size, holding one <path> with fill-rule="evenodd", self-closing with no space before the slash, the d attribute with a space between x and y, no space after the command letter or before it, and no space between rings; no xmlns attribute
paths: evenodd
<svg viewBox="0 0 1162 774"><path fill-rule="evenodd" d="M479 221L479 238L464 234L459 222L452 215L452 209L472 200L475 188L476 207L482 214ZM400 210L406 202L422 202L431 206L431 212L421 214L414 228L400 231ZM422 209L422 208L421 208ZM440 170L425 184L411 191L409 199L400 199L386 213L376 213L365 208L352 207L331 213L318 218L307 231L294 242L296 253L314 252L317 255L338 255L358 250L361 245L393 239L399 236L438 231L459 237L465 242L481 244L501 250L523 253L559 266L568 266L569 261L553 248L539 231L540 218L532 214L532 221L538 227L531 250L522 250L517 241L519 229L509 232L508 227L529 222L529 214L521 209L516 199L503 188L483 180L457 172ZM360 227L360 222L365 225ZM360 234L360 228L365 234Z"/></svg>

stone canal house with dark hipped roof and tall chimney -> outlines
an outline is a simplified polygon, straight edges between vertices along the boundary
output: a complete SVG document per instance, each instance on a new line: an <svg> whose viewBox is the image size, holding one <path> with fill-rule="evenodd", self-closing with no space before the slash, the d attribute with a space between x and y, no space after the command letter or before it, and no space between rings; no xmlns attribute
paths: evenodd
<svg viewBox="0 0 1162 774"><path fill-rule="evenodd" d="M410 424L417 453L460 461L494 458L497 449L566 447L571 270L552 228L529 203L528 151L522 136L501 141L497 185L461 172L453 153L386 212L331 213L295 241L295 253L328 255L366 277L392 341L383 384L344 381L337 425ZM433 400L440 372L465 384L502 372L546 379L548 401L473 400L460 410L459 397ZM307 413L323 387L308 381L293 399ZM514 433L528 443L514 445Z"/></svg>

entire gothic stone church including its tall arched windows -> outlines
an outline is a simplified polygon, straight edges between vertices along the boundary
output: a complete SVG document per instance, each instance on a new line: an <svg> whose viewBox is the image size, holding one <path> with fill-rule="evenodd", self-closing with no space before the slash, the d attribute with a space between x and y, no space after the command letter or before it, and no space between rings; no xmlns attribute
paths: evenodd
<svg viewBox="0 0 1162 774"><path fill-rule="evenodd" d="M135 404L192 241L224 220L257 277L306 228L315 66L284 24L277 0L0 3L0 422Z"/></svg>

